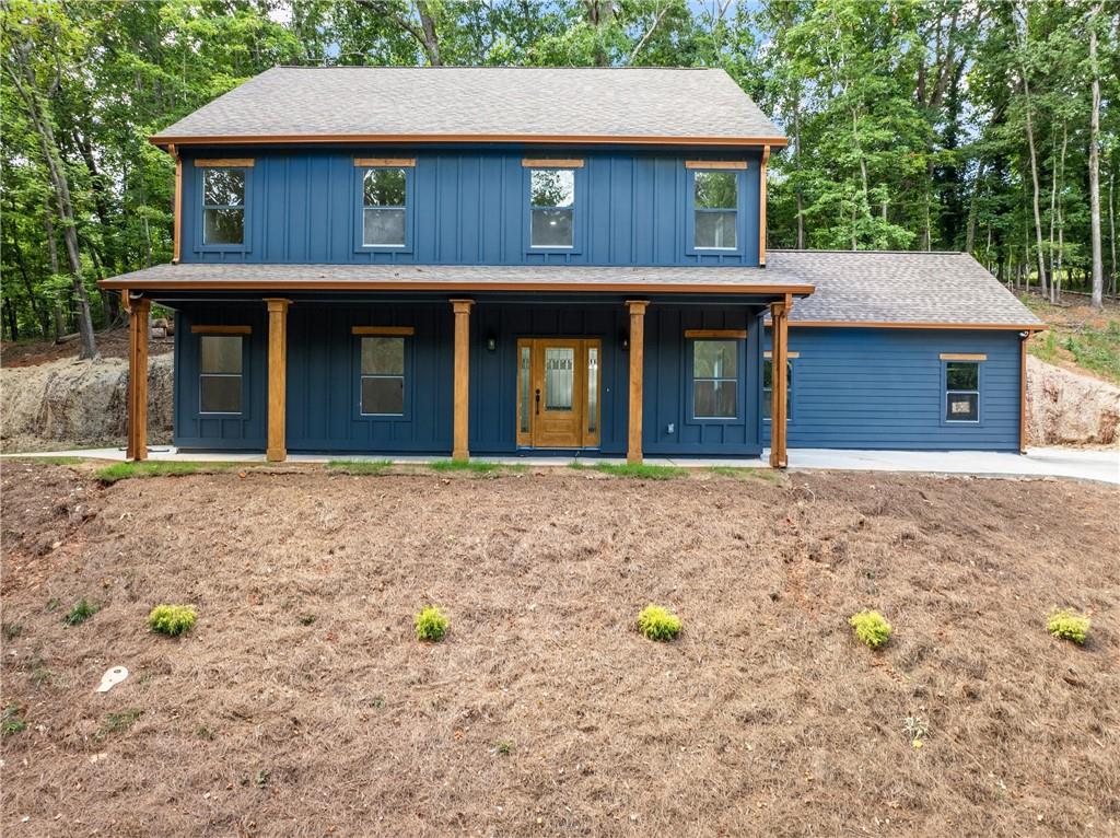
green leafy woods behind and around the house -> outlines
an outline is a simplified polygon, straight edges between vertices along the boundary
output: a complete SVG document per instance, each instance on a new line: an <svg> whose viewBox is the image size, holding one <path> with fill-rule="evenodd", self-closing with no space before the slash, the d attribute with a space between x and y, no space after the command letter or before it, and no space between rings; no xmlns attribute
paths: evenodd
<svg viewBox="0 0 1120 838"><path fill-rule="evenodd" d="M147 138L277 64L724 67L791 139L771 159L772 248L968 250L1052 294L1092 267L1095 76L1116 289L1113 2L0 0L0 17L6 337L77 333L83 295L93 325L120 323L96 280L171 253L174 166Z"/></svg>

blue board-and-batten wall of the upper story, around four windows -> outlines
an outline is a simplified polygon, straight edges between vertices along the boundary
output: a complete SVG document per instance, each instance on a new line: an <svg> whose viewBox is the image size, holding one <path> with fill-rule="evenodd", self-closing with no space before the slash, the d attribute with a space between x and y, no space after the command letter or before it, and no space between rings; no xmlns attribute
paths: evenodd
<svg viewBox="0 0 1120 838"><path fill-rule="evenodd" d="M183 261L416 264L758 264L757 152L491 149L208 149L252 157L244 246L203 249L202 169L184 156ZM357 250L361 169L355 157L416 156L408 252ZM573 252L526 252L524 157L580 157ZM741 253L690 254L685 159L745 159Z"/></svg>

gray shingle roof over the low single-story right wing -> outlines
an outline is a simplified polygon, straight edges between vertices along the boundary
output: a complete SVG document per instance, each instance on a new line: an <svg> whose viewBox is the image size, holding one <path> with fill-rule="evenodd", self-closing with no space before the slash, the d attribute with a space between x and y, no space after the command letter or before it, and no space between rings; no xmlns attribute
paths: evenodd
<svg viewBox="0 0 1120 838"><path fill-rule="evenodd" d="M772 250L766 262L775 281L816 287L791 324L1043 325L968 253Z"/></svg>

